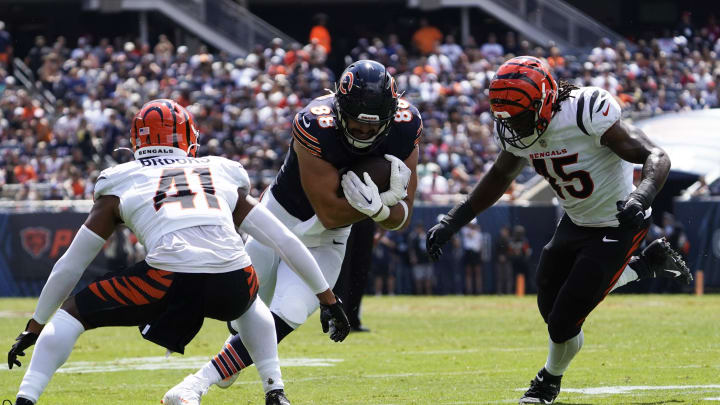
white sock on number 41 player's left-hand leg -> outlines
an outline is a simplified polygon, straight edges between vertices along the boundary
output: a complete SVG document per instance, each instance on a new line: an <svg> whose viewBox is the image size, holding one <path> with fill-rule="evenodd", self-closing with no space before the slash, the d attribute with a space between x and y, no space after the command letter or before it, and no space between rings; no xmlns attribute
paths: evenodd
<svg viewBox="0 0 720 405"><path fill-rule="evenodd" d="M40 333L27 372L20 383L19 397L37 402L55 371L70 356L75 341L85 331L80 321L58 310Z"/></svg>

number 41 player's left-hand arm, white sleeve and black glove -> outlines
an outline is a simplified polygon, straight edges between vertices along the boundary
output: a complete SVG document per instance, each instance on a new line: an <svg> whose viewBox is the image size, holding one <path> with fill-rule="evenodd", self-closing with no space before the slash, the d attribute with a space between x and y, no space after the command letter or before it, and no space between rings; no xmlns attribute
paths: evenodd
<svg viewBox="0 0 720 405"><path fill-rule="evenodd" d="M15 339L8 352L8 368L21 365L18 356L35 344L40 332L60 304L70 295L85 269L100 252L120 222L117 215L119 199L114 196L100 197L92 207L85 223L75 234L70 247L53 266L50 277L40 293L35 313L25 326L25 331Z"/></svg>

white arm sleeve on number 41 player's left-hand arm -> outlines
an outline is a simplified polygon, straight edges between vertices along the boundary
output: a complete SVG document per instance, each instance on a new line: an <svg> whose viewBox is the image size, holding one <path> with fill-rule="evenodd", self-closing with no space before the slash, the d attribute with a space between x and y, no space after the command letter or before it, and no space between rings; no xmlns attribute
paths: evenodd
<svg viewBox="0 0 720 405"><path fill-rule="evenodd" d="M105 239L85 225L80 227L68 250L53 266L50 277L40 293L33 319L41 325L47 323L55 310L70 295L80 276L104 244Z"/></svg>

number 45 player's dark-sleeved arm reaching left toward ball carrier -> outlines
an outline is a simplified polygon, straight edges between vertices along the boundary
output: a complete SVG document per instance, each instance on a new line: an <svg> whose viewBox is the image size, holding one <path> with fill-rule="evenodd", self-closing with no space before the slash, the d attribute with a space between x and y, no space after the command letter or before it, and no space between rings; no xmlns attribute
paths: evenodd
<svg viewBox="0 0 720 405"><path fill-rule="evenodd" d="M430 258L438 260L442 255L442 246L452 236L472 221L475 216L491 207L510 187L520 170L525 166L525 159L509 152L502 151L498 159L470 192L468 198L453 207L437 225L427 233L426 246Z"/></svg>

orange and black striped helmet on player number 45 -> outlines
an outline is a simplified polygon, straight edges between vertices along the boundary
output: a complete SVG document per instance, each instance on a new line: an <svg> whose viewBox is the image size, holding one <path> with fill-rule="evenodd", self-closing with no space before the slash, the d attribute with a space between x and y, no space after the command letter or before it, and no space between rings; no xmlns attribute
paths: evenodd
<svg viewBox="0 0 720 405"><path fill-rule="evenodd" d="M503 63L490 82L490 108L503 145L532 146L550 125L558 86L540 61L518 56Z"/></svg>

